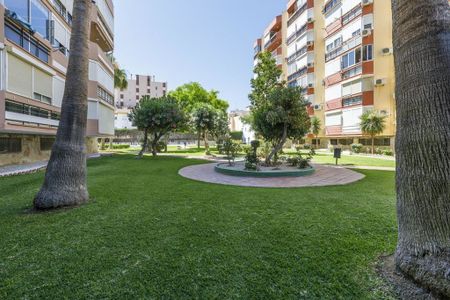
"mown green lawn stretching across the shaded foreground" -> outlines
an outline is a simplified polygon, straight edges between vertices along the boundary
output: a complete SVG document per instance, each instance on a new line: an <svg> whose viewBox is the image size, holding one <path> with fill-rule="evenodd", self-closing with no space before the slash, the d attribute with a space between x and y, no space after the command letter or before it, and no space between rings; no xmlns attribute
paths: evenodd
<svg viewBox="0 0 450 300"><path fill-rule="evenodd" d="M89 161L88 205L29 212L43 173L0 179L0 299L380 299L394 173L255 189L177 175L200 163Z"/></svg>

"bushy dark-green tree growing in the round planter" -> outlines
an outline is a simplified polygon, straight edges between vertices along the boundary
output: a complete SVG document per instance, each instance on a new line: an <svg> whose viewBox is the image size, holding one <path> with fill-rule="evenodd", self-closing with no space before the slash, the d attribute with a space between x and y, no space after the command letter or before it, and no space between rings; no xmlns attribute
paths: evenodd
<svg viewBox="0 0 450 300"><path fill-rule="evenodd" d="M302 138L311 126L306 101L298 87L276 87L264 105L253 108L252 114L254 129L272 144L272 151L266 157L267 165L283 149L288 138Z"/></svg>

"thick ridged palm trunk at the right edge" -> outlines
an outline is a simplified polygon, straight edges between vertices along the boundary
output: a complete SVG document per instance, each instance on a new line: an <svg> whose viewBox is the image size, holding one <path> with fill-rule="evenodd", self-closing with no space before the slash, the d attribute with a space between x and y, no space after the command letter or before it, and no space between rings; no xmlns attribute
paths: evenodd
<svg viewBox="0 0 450 300"><path fill-rule="evenodd" d="M450 8L393 0L398 269L450 298Z"/></svg>

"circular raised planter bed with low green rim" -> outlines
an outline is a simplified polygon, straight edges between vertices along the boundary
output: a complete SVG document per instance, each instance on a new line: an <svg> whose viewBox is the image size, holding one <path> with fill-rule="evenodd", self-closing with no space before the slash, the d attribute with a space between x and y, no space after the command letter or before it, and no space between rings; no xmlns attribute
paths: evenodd
<svg viewBox="0 0 450 300"><path fill-rule="evenodd" d="M230 166L228 163L219 163L214 167L214 170L217 173L224 175L258 178L302 177L311 175L315 172L313 167L308 167L305 169L298 169L295 167L283 167L281 169L265 167L258 171L251 171L245 170L245 165L243 162L236 162L233 166Z"/></svg>

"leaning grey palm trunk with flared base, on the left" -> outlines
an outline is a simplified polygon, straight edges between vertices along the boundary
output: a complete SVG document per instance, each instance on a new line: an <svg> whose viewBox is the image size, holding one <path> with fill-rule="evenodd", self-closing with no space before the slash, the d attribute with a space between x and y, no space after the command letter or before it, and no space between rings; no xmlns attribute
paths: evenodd
<svg viewBox="0 0 450 300"><path fill-rule="evenodd" d="M34 198L36 209L74 206L89 200L85 138L91 5L91 0L74 1L61 119L44 184Z"/></svg>

